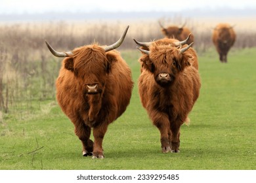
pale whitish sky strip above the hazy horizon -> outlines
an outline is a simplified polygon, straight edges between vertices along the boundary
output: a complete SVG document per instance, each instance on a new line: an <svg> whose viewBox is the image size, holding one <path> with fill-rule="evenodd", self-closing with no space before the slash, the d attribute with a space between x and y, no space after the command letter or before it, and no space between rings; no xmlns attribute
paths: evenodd
<svg viewBox="0 0 256 183"><path fill-rule="evenodd" d="M256 8L256 0L0 0L0 14L42 12L173 11L194 8Z"/></svg>

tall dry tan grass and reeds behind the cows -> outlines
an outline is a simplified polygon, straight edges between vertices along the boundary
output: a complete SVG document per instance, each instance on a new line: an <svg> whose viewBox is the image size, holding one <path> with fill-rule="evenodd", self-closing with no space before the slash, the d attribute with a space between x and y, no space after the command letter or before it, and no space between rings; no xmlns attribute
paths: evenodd
<svg viewBox="0 0 256 183"><path fill-rule="evenodd" d="M212 28L219 20L205 21L182 17L161 18L163 25L177 24L192 30L196 50L200 54L213 47ZM227 20L235 24L235 48L256 46L253 18ZM130 25L125 41L119 49L135 49L133 37L139 41L152 41L163 37L158 20L126 20L125 22L37 22L0 24L0 110L8 112L9 105L20 108L20 101L53 99L54 81L60 68L59 58L51 55L45 39L59 51L73 50L77 46L98 42L112 44ZM28 104L29 106L29 104Z"/></svg>

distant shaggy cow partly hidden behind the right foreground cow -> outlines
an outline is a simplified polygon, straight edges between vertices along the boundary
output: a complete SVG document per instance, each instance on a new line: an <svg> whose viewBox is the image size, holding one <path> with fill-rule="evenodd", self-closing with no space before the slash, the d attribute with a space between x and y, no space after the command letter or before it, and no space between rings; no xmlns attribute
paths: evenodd
<svg viewBox="0 0 256 183"><path fill-rule="evenodd" d="M179 41L182 41L186 39L188 35L190 35L191 33L190 29L184 27L184 25L182 25L182 27L172 25L165 28L163 27L163 25L161 25L161 22L159 22L159 24L163 35L165 35L165 37L167 38L178 39ZM190 36L190 39L188 39L187 44L191 44L192 42L194 42L194 35Z"/></svg>

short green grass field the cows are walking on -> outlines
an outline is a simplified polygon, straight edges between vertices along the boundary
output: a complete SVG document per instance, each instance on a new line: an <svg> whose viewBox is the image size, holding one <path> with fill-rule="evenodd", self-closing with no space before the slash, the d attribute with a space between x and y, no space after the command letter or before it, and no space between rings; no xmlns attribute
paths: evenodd
<svg viewBox="0 0 256 183"><path fill-rule="evenodd" d="M74 126L56 101L33 101L0 116L0 169L256 169L256 48L199 56L202 88L181 128L181 152L162 154L160 133L140 105L140 56L122 51L135 88L104 137L105 159L81 156ZM57 76L56 76L57 77Z"/></svg>

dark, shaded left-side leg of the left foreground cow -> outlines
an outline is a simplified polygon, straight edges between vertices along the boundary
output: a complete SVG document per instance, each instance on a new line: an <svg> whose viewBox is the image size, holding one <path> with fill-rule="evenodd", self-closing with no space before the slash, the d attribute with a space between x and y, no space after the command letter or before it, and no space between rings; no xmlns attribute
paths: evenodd
<svg viewBox="0 0 256 183"><path fill-rule="evenodd" d="M83 156L93 155L93 141L90 139L91 127L85 125L83 122L75 125L75 135L83 144Z"/></svg>

